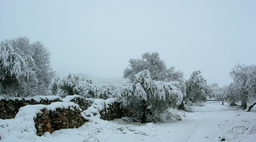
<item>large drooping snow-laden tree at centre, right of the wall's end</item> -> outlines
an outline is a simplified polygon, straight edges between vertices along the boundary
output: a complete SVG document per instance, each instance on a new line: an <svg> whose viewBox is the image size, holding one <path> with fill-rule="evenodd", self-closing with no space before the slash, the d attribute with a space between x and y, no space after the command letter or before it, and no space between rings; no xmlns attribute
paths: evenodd
<svg viewBox="0 0 256 142"><path fill-rule="evenodd" d="M142 114L142 122L146 122L147 110L152 113L151 115L156 116L168 107L180 104L185 94L184 86L185 84L181 82L154 81L150 72L143 70L135 74L132 83L120 87L119 92L134 112Z"/></svg>

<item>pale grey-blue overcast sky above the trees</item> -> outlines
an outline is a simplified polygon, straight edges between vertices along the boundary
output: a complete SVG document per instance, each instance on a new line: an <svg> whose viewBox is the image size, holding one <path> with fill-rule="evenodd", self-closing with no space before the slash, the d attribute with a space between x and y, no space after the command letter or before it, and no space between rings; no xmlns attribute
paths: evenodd
<svg viewBox="0 0 256 142"><path fill-rule="evenodd" d="M121 78L157 51L185 79L201 70L223 86L237 63L256 63L256 1L0 0L0 40L19 36L45 44L60 76Z"/></svg>

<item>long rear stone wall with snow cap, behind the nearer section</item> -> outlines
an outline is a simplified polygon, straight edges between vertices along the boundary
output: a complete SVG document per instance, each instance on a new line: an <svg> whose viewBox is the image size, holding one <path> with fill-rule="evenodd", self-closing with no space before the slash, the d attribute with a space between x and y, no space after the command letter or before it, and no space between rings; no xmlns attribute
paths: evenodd
<svg viewBox="0 0 256 142"><path fill-rule="evenodd" d="M104 120L121 118L128 113L117 98L104 100L85 98L78 95L66 96L65 98L58 96L34 96L27 98L0 99L0 119L13 119L19 112L19 109L26 105L54 105L54 102L73 102L79 106L81 111L86 110L87 115L94 116L94 114L97 114L96 117Z"/></svg>

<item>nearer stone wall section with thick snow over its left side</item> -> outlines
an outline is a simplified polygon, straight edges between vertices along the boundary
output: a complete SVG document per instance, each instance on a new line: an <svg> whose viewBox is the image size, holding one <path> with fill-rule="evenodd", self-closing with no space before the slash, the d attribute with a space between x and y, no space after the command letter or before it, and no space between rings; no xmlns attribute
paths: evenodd
<svg viewBox="0 0 256 142"><path fill-rule="evenodd" d="M17 133L17 137L22 139L23 132L30 132L34 137L35 134L41 136L45 132L78 128L87 122L81 111L82 109L73 102L26 105L19 109L14 119L0 119L0 129L6 134Z"/></svg>

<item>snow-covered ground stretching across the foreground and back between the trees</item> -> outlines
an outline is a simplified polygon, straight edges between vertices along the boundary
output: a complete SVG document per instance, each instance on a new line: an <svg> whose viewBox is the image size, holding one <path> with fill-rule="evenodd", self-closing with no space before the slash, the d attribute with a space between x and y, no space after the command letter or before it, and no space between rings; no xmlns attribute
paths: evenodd
<svg viewBox="0 0 256 142"><path fill-rule="evenodd" d="M25 131L15 125L15 119L0 119L1 142L253 142L256 141L256 112L245 112L221 102L207 102L205 106L192 106L192 113L180 111L181 121L170 123L132 123L125 118L114 121L98 119L86 122L82 127L46 132L38 137L33 131ZM25 125L25 124L24 124ZM239 127L237 127L239 126ZM3 128L4 127L4 128ZM25 128L25 127L24 127ZM246 129L247 128L247 129ZM15 130L13 130L15 129Z"/></svg>

